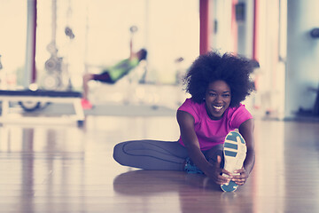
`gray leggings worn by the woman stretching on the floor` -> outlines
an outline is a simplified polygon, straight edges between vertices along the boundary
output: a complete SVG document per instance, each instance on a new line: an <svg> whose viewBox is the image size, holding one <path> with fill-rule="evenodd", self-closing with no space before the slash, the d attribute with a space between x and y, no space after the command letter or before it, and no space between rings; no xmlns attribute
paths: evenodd
<svg viewBox="0 0 319 213"><path fill-rule="evenodd" d="M222 145L203 151L208 162L222 156ZM123 166L144 170L184 170L187 149L177 141L134 140L114 146L113 158Z"/></svg>

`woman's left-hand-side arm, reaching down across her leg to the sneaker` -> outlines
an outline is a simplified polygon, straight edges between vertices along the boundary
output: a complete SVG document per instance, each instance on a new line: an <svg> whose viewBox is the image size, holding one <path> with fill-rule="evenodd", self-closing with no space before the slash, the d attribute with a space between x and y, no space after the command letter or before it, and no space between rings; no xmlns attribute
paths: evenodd
<svg viewBox="0 0 319 213"><path fill-rule="evenodd" d="M223 185L228 183L232 176L229 171L220 168L221 159L219 159L219 163L213 165L206 161L204 154L200 151L198 138L194 130L193 116L187 112L178 110L177 122L180 126L183 144L187 148L192 162L194 162L198 169L202 170L207 177L213 178L216 184ZM223 177L221 173L225 173L230 177Z"/></svg>

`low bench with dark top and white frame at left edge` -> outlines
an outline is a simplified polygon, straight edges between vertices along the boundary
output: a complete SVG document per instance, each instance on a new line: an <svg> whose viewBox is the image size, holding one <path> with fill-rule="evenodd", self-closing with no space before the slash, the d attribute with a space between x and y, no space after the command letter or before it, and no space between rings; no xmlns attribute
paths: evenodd
<svg viewBox="0 0 319 213"><path fill-rule="evenodd" d="M0 91L0 101L2 102L2 114L0 122L70 122L76 121L78 125L84 122L84 112L81 105L82 94L76 91ZM41 102L41 103L71 103L74 106L75 114L68 116L12 116L10 114L10 102Z"/></svg>

